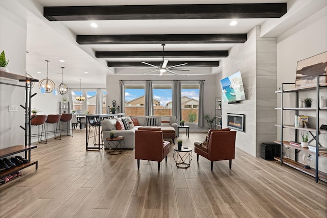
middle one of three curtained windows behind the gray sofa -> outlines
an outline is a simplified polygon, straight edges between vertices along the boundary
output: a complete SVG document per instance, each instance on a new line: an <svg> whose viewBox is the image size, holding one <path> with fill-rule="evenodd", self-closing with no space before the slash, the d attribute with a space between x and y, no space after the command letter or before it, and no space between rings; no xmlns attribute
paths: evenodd
<svg viewBox="0 0 327 218"><path fill-rule="evenodd" d="M153 115L172 115L172 85L152 85Z"/></svg>

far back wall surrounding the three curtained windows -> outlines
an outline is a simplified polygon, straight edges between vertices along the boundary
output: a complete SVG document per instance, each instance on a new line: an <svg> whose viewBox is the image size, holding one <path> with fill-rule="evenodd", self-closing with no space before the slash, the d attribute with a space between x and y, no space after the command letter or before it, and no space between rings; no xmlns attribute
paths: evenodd
<svg viewBox="0 0 327 218"><path fill-rule="evenodd" d="M215 114L215 93L216 93L216 76L118 76L112 75L107 76L107 103L111 107L112 100L116 100L117 106L119 105L119 95L120 95L120 80L129 80L125 83L127 84L145 84L144 81L152 80L152 84L172 84L173 80L181 80L183 84L190 83L188 80L194 81L204 81L204 114ZM158 81L162 80L162 81ZM166 80L166 81L165 81ZM220 95L219 95L220 96ZM207 130L208 125L205 123L204 128L199 128L197 124L188 124L192 130Z"/></svg>

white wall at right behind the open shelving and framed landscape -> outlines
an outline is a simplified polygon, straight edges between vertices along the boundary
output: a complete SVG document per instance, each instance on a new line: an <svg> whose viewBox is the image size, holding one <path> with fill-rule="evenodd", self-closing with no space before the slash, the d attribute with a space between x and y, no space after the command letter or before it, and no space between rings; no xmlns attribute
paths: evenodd
<svg viewBox="0 0 327 218"><path fill-rule="evenodd" d="M277 87L282 83L295 83L297 62L311 56L327 51L327 7L321 9L316 14L277 37ZM293 86L294 87L294 86ZM322 96L327 96L327 90L322 89ZM301 92L300 98L312 97L314 99L312 107L316 107L316 92ZM277 95L277 106L281 106L280 94ZM285 106L295 106L294 94L284 101ZM303 112L301 112L303 113ZM309 124L315 126L315 112L305 112L309 115ZM302 115L302 114L301 114ZM304 115L304 114L303 114ZM278 113L277 123L281 123L280 113ZM294 112L284 113L284 122L294 124ZM327 124L327 113L320 112L320 124ZM294 140L294 130L284 130L283 140ZM278 128L277 138L280 138L280 129ZM319 135L319 141L323 147L327 147L327 138L325 134ZM299 154L301 162L302 152ZM288 153L294 158L294 152ZM319 158L319 169L327 172L327 158Z"/></svg>

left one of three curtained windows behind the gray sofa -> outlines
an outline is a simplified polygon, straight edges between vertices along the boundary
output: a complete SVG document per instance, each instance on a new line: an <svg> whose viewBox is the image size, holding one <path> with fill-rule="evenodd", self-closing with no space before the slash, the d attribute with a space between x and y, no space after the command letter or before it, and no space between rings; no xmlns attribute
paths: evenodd
<svg viewBox="0 0 327 218"><path fill-rule="evenodd" d="M145 115L145 86L125 85L125 114L126 116Z"/></svg>

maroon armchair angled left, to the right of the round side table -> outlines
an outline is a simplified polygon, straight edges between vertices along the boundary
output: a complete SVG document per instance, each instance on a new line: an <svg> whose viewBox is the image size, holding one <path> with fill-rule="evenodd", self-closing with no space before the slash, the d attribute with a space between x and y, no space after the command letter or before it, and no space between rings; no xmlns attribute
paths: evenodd
<svg viewBox="0 0 327 218"><path fill-rule="evenodd" d="M231 160L235 159L236 131L229 130L211 130L204 143L194 143L197 161L199 161L199 155L210 160L211 171L213 171L214 161L229 160L229 168L231 168Z"/></svg>

